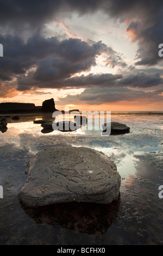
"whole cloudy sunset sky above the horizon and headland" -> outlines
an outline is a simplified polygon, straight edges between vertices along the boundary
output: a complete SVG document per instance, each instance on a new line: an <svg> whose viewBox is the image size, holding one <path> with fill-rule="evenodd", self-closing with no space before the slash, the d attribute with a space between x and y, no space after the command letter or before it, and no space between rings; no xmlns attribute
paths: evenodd
<svg viewBox="0 0 163 256"><path fill-rule="evenodd" d="M163 111L162 0L0 0L0 102ZM163 51L162 51L163 52Z"/></svg>

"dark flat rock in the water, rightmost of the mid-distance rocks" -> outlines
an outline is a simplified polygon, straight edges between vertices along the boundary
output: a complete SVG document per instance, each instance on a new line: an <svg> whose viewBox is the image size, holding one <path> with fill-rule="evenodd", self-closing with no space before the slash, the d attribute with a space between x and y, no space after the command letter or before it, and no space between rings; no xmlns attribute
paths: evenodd
<svg viewBox="0 0 163 256"><path fill-rule="evenodd" d="M103 124L102 129L103 132L106 131L105 126L108 126L109 124ZM111 133L110 135L120 135L124 133L130 132L130 127L126 126L126 124L111 122Z"/></svg>

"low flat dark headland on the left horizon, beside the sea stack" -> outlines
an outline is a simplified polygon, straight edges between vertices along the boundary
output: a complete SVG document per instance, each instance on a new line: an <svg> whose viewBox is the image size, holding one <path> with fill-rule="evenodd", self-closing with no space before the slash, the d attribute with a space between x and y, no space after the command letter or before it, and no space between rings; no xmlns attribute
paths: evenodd
<svg viewBox="0 0 163 256"><path fill-rule="evenodd" d="M36 110L36 106L34 103L0 103L0 111L1 112L15 112L16 111L34 111Z"/></svg>

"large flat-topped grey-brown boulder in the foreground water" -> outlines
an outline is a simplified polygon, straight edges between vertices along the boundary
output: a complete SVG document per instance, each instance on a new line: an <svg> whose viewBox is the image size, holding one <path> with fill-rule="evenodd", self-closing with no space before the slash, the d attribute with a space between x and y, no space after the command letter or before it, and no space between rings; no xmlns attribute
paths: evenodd
<svg viewBox="0 0 163 256"><path fill-rule="evenodd" d="M52 147L27 164L18 198L29 207L54 203L109 204L118 198L121 176L103 153L83 147Z"/></svg>

